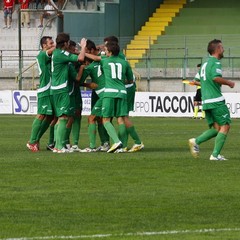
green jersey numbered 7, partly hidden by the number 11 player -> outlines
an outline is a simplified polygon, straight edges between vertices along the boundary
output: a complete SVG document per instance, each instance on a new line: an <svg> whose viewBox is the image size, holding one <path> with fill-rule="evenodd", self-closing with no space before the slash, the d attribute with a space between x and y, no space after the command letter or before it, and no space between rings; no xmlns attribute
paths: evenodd
<svg viewBox="0 0 240 240"><path fill-rule="evenodd" d="M92 82L98 85L98 87L95 89L95 92L97 93L97 95L102 93L105 87L105 78L101 70L100 62L92 62L91 64L86 66L84 68L83 75L80 82L81 83L84 82L88 76L91 77Z"/></svg>

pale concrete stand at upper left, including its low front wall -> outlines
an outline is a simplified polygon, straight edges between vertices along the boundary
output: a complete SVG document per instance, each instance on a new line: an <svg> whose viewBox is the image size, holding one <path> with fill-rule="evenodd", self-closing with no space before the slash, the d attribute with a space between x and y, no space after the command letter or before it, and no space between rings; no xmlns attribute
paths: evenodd
<svg viewBox="0 0 240 240"><path fill-rule="evenodd" d="M116 2L117 0L107 0L106 2ZM76 5L75 0L66 1L64 9L77 12L90 12L101 11L100 6L96 5L96 0L85 0L80 2L80 9ZM100 2L99 2L100 3ZM58 5L58 3L56 2ZM97 6L97 7L96 7ZM55 40L57 36L58 26L57 21L54 19L51 27L44 26L38 28L40 25L40 15L44 5L39 4L38 10L36 10L36 3L32 1L30 9L30 28L20 28L18 26L18 9L19 4L15 4L15 11L13 13L13 21L10 29L3 29L4 17L3 17L3 2L0 1L0 89L17 89L18 84L15 79L18 78L20 71L20 62L22 73L21 77L26 82L24 89L35 88L36 83L34 80L38 80L36 55L40 49L40 39L43 35L52 36ZM44 20L44 24L47 21ZM21 38L19 37L21 36ZM19 60L19 39L21 39L21 60ZM27 80L27 81L26 81Z"/></svg>

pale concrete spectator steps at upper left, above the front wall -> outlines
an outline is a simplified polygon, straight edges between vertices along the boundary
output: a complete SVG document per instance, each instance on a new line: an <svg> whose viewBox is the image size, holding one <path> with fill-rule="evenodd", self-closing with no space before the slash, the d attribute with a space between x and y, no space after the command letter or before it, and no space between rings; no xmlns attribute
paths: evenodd
<svg viewBox="0 0 240 240"><path fill-rule="evenodd" d="M113 0L109 0L112 2ZM94 0L86 1L87 4L83 6L81 1L80 9L77 8L75 0L67 1L65 9L71 11L96 11ZM52 36L53 39L57 36L57 23L53 20L52 26L45 28L38 28L40 25L40 15L42 14L43 6L39 4L38 11L36 10L35 2L30 4L30 28L21 28L21 49L22 54L29 60L24 60L23 67L28 66L35 60L35 56L40 48L39 41L43 35ZM18 49L19 49L19 28L18 28L18 9L19 4L15 5L15 11L12 16L12 26L10 29L3 29L4 17L2 11L2 3L0 5L0 68L16 68L18 69ZM44 23L46 21L44 20ZM11 56L11 60L9 57ZM14 57L16 56L16 58Z"/></svg>

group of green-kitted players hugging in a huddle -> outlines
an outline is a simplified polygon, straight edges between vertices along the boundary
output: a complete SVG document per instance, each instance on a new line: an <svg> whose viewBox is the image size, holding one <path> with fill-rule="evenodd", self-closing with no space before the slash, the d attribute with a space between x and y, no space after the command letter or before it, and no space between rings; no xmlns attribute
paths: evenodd
<svg viewBox="0 0 240 240"><path fill-rule="evenodd" d="M96 46L83 38L79 44L69 34L41 38L37 56L40 83L38 110L32 124L27 148L39 151L40 139L49 128L47 149L54 153L125 153L144 148L129 111L133 110L136 84L132 69L120 51L115 36ZM80 47L80 51L79 51ZM103 54L104 53L104 54ZM91 82L86 81L87 78ZM88 116L89 147L78 147L81 129L81 87L92 89L91 114ZM118 132L112 124L116 118ZM101 145L96 146L98 130ZM72 135L72 142L70 136ZM134 145L128 149L128 135ZM110 146L110 139L112 146Z"/></svg>

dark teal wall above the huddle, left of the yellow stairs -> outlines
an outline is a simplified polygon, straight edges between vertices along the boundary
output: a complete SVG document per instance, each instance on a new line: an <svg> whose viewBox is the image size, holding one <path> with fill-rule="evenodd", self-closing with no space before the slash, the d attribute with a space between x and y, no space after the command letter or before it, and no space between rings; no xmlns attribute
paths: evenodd
<svg viewBox="0 0 240 240"><path fill-rule="evenodd" d="M120 3L105 3L104 11L64 11L64 32L75 41L91 38L97 44L105 36L115 35L124 47L140 30L163 0L120 0ZM124 39L124 40L121 40Z"/></svg>

